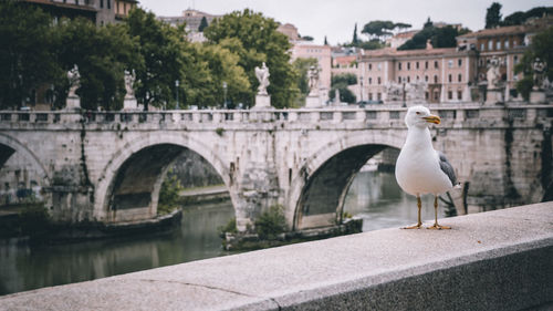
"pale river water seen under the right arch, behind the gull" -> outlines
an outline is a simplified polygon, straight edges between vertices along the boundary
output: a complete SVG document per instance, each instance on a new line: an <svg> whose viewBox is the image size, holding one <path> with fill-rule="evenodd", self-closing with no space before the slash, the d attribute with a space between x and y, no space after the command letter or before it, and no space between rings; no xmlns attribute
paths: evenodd
<svg viewBox="0 0 553 311"><path fill-rule="evenodd" d="M417 224L417 199L399 188L393 173L361 172L346 195L344 210L363 218L363 231ZM439 208L438 217L444 217ZM434 196L422 196L422 220L434 219Z"/></svg>

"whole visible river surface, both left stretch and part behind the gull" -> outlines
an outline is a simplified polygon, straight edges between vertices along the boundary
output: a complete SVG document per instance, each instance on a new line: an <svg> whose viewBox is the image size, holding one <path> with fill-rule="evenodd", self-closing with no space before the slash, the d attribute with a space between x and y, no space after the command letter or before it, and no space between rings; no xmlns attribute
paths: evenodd
<svg viewBox="0 0 553 311"><path fill-rule="evenodd" d="M434 219L432 198L425 198L424 206L422 218ZM417 219L415 198L389 173L359 173L345 210L364 218L364 231ZM229 255L221 250L217 228L233 214L230 201L186 207L180 228L165 235L41 247L0 240L0 294Z"/></svg>

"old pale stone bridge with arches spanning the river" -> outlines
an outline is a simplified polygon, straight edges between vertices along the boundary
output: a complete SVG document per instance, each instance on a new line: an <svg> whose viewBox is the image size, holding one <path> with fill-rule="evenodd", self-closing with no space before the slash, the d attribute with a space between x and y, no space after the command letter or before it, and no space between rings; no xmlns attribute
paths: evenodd
<svg viewBox="0 0 553 311"><path fill-rule="evenodd" d="M540 201L551 187L553 106L448 104L431 129L470 204ZM324 110L0 112L3 191L39 187L56 220L154 218L166 170L185 149L221 176L239 229L282 205L292 230L333 225L359 168L400 148L400 106ZM15 185L15 186L14 186Z"/></svg>

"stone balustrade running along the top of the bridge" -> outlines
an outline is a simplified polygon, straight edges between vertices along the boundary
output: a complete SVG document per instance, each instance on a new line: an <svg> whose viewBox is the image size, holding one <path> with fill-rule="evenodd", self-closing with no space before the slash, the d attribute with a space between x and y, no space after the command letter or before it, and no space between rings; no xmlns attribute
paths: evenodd
<svg viewBox="0 0 553 311"><path fill-rule="evenodd" d="M493 126L535 123L553 118L551 105L481 106L479 104L444 104L431 106L444 125ZM298 110L200 110L158 112L70 112L70 111L0 111L0 126L14 124L240 124L286 122L298 124L364 123L367 126L404 126L406 108L376 106L366 108L298 108Z"/></svg>

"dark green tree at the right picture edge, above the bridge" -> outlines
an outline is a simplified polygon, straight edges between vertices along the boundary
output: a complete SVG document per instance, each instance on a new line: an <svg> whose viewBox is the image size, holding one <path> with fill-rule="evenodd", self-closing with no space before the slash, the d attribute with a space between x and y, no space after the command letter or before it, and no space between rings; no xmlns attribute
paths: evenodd
<svg viewBox="0 0 553 311"><path fill-rule="evenodd" d="M532 43L524 52L521 62L514 68L515 73L523 73L524 77L517 83L519 91L524 99L530 97L530 92L534 86L533 83L533 63L540 59L546 64L545 76L549 81L553 81L553 27L538 33L532 38Z"/></svg>

